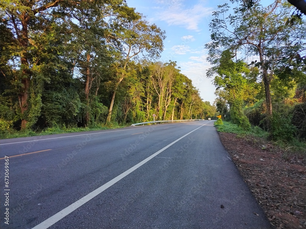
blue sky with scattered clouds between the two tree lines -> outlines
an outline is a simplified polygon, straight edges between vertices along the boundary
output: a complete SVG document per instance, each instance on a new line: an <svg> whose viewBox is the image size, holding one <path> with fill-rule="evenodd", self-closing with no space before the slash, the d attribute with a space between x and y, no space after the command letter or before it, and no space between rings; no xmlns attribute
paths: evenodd
<svg viewBox="0 0 306 229"><path fill-rule="evenodd" d="M126 0L128 6L147 16L150 23L155 23L166 31L164 51L160 60L177 61L181 73L192 79L193 85L200 90L204 101L213 104L215 86L211 78L206 78L210 67L206 61L207 50L204 45L210 42L209 23L212 12L218 5L228 0Z"/></svg>

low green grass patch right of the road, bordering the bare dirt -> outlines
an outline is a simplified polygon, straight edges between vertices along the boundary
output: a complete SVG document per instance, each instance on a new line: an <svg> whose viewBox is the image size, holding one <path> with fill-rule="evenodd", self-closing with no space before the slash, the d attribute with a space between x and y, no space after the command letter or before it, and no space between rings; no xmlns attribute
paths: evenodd
<svg viewBox="0 0 306 229"><path fill-rule="evenodd" d="M217 130L219 132L235 133L239 136L252 135L264 139L266 139L269 136L269 133L267 131L264 131L258 126L252 126L251 129L248 131L245 131L237 124L233 124L232 122L226 122L226 121L223 121L223 125L215 125L215 126L217 127Z"/></svg>

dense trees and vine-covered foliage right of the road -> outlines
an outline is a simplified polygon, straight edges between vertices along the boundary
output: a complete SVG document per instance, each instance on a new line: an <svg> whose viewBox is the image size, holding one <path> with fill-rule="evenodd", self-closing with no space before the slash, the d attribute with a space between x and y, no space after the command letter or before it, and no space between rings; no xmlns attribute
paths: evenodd
<svg viewBox="0 0 306 229"><path fill-rule="evenodd" d="M233 9L225 3L213 13L206 45L217 110L244 130L269 131L273 140L305 139L305 16L287 1L231 2Z"/></svg>

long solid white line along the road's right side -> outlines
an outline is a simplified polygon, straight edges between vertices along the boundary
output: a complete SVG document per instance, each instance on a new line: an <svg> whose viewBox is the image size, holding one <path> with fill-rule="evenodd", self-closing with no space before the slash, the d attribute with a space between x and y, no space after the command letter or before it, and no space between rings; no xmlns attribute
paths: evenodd
<svg viewBox="0 0 306 229"><path fill-rule="evenodd" d="M206 125L206 124L204 124ZM80 198L78 201L74 202L73 204L69 205L68 207L64 208L62 211L56 213L55 215L51 216L47 220L43 221L42 223L38 224L37 226L33 227L32 229L47 229L48 227L51 227L53 224L64 218L65 216L72 213L74 210L85 204L86 202L90 201L95 196L99 195L101 192L112 186L113 184L117 183L119 180L124 178L125 176L129 175L136 169L138 169L141 165L144 165L146 162L150 161L152 158L160 154L162 151L166 150L170 146L172 146L174 143L178 142L182 138L186 137L188 134L192 133L193 131L196 131L197 129L201 128L202 126L190 131L189 133L185 134L184 136L180 137L179 139L175 140L174 142L170 143L169 145L163 147L161 150L157 151L155 154L152 154L151 156L144 159L142 162L139 162L137 165L134 165L132 168L126 170L125 172L121 173L119 176L116 176L114 179L110 180L106 184L103 184L101 187L97 188L96 190L92 191L91 193L87 194L83 198Z"/></svg>

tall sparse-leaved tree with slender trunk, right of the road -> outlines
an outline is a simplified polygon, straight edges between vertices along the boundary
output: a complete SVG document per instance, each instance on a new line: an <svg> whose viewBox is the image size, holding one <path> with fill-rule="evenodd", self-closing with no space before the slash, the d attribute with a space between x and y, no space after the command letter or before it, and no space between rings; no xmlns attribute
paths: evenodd
<svg viewBox="0 0 306 229"><path fill-rule="evenodd" d="M279 62L284 53L294 47L300 47L304 33L300 33L304 22L286 25L292 7L288 3L275 1L273 4L263 7L259 1L253 1L250 8L238 6L234 13L226 16L230 6L223 4L218 6L212 20L211 39L207 44L209 57L212 64L216 64L222 50L234 50L243 52L244 56L258 56L259 61L253 61L260 68L261 79L264 85L267 104L267 119L272 115L271 80L279 69Z"/></svg>

